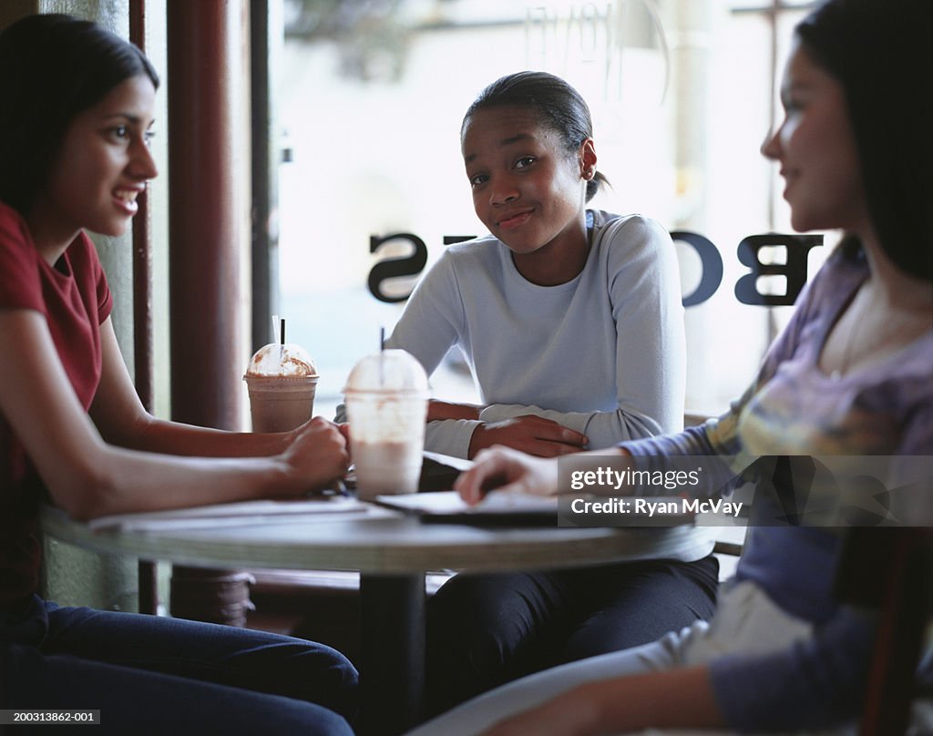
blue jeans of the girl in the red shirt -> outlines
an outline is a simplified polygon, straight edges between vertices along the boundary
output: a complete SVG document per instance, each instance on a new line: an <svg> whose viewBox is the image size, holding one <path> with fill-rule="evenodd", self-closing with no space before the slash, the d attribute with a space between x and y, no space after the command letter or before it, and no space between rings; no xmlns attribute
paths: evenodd
<svg viewBox="0 0 933 736"><path fill-rule="evenodd" d="M95 733L350 735L356 685L339 652L278 634L38 597L0 610L0 708L100 710Z"/></svg>

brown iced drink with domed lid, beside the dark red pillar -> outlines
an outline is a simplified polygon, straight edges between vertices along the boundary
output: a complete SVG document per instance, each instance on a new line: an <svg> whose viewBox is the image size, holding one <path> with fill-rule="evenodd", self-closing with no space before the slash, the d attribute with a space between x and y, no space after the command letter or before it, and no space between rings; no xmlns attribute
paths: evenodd
<svg viewBox="0 0 933 736"><path fill-rule="evenodd" d="M286 432L311 419L317 379L311 355L299 345L259 348L244 375L253 431Z"/></svg>

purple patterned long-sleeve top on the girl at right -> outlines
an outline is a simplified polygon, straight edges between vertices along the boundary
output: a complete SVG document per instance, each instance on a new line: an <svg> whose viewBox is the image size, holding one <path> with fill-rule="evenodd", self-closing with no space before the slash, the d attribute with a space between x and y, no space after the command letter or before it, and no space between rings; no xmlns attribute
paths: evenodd
<svg viewBox="0 0 933 736"><path fill-rule="evenodd" d="M834 254L729 412L622 447L644 465L652 456L712 453L749 462L760 455L933 455L933 332L838 379L819 368L831 327L867 277L864 262ZM717 701L734 729L820 728L852 718L874 627L867 614L833 599L838 530L756 525L759 513L774 518L773 508L756 503L736 578L754 580L774 603L811 621L815 633L772 655L716 660Z"/></svg>

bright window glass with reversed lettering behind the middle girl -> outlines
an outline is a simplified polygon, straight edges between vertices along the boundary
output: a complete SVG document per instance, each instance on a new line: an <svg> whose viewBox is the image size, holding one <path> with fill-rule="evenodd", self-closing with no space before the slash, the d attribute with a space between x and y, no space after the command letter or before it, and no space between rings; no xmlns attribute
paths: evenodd
<svg viewBox="0 0 933 736"><path fill-rule="evenodd" d="M287 2L282 119L293 157L281 173L281 312L321 373L315 410L332 416L350 368L378 349L380 328L390 331L403 307L373 296L369 280L377 264L410 257L412 239L375 253L370 243L414 236L429 268L445 238L484 234L460 123L485 85L528 68L563 76L590 104L598 168L612 185L592 207L642 213L717 247L722 282L686 312L688 408L725 409L789 312L734 292L748 272L738 244L792 232L776 167L759 155L779 113L773 78L803 15L793 8L801 3L782 5L791 9L775 26L772 3L725 0ZM688 243L675 247L688 295L702 262ZM401 299L417 278L380 291ZM432 387L477 400L455 354Z"/></svg>

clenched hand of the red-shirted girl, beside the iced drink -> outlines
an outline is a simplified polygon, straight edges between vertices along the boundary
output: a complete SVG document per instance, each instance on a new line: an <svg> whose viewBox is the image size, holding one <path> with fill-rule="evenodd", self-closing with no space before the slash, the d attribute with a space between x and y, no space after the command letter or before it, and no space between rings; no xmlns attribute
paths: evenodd
<svg viewBox="0 0 933 736"><path fill-rule="evenodd" d="M295 433L282 457L289 470L301 479L299 493L327 488L346 475L350 453L341 427L323 417L314 417Z"/></svg>

